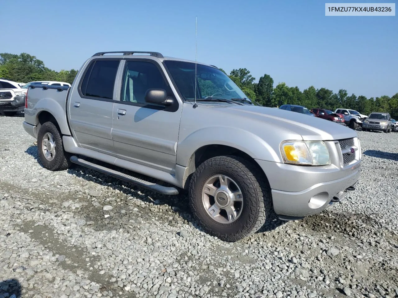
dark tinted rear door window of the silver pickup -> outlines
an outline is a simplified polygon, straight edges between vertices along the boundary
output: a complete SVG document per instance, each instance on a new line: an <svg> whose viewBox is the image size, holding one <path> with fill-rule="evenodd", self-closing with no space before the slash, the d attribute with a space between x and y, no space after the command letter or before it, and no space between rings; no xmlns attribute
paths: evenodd
<svg viewBox="0 0 398 298"><path fill-rule="evenodd" d="M119 60L97 60L82 81L83 95L112 99Z"/></svg>

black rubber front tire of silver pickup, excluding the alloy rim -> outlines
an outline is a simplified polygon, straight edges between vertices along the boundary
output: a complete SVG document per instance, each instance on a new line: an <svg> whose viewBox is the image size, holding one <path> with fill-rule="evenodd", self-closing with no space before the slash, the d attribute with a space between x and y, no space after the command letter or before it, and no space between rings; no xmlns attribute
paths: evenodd
<svg viewBox="0 0 398 298"><path fill-rule="evenodd" d="M215 221L202 203L205 182L218 174L232 178L242 191L242 213L232 223ZM272 208L271 189L261 177L263 176L253 164L240 157L217 156L204 161L193 173L189 184L189 205L203 230L228 242L238 241L257 232Z"/></svg>

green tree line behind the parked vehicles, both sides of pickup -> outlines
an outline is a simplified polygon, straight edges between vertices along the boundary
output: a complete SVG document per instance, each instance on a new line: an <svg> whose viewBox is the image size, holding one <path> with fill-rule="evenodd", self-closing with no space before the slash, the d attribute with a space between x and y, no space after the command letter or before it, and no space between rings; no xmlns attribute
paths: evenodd
<svg viewBox="0 0 398 298"><path fill-rule="evenodd" d="M224 73L225 71L222 70ZM27 53L0 53L0 77L11 81L28 83L31 81L62 81L72 84L77 70L61 70L56 72L44 66L44 62ZM279 83L273 87L274 81L268 74L260 77L258 83L246 68L233 69L228 75L236 85L250 98L263 106L281 106L282 104L298 104L307 108L349 108L361 114L371 112L389 112L398 118L398 93L389 97L367 98L355 94L348 96L347 90L340 89L338 93L326 88L316 89L310 86L303 91Z"/></svg>

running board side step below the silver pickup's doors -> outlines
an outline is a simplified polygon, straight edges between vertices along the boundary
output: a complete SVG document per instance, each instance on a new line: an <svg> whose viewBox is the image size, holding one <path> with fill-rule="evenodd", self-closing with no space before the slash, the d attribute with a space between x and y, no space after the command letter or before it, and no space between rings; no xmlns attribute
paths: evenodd
<svg viewBox="0 0 398 298"><path fill-rule="evenodd" d="M80 166L84 166L86 168L90 168L90 169L100 172L102 174L107 174L107 175L115 177L117 179L136 184L138 186L141 186L148 190L152 190L159 194L164 194L164 195L177 195L178 194L178 189L175 187L162 186L160 184L148 182L148 181L142 180L140 178L130 176L125 173L122 173L122 172L119 172L116 170L112 170L110 168L106 168L105 166L100 166L95 163L90 163L90 161L86 161L86 160L78 158L77 156L74 156L74 155L70 157L70 161L72 163L78 164Z"/></svg>

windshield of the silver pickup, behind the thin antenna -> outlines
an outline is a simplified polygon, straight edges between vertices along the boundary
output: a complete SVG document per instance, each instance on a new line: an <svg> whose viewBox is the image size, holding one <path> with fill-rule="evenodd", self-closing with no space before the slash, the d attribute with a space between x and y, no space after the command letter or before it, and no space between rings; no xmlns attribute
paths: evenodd
<svg viewBox="0 0 398 298"><path fill-rule="evenodd" d="M195 63L165 60L179 93L185 100L195 99ZM196 98L222 97L244 99L247 96L221 70L203 64L196 65Z"/></svg>

